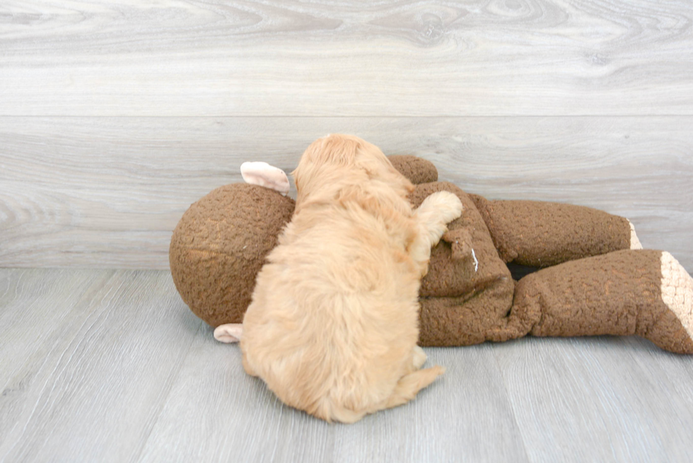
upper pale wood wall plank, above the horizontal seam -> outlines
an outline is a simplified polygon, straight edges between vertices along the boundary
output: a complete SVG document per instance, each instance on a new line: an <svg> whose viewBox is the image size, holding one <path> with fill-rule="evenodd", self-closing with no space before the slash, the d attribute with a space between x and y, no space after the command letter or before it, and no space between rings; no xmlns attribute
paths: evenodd
<svg viewBox="0 0 693 463"><path fill-rule="evenodd" d="M693 115L690 1L5 1L0 115Z"/></svg>

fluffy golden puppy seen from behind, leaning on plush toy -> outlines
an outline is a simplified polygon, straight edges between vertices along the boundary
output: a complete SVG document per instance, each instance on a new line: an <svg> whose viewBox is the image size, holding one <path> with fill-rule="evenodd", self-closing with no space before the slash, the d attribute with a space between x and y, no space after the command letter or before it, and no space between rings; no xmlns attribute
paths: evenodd
<svg viewBox="0 0 693 463"><path fill-rule="evenodd" d="M243 366L284 403L353 423L444 371L419 370L419 282L462 204L438 192L412 211L412 183L355 136L318 139L293 176L296 212L257 276Z"/></svg>

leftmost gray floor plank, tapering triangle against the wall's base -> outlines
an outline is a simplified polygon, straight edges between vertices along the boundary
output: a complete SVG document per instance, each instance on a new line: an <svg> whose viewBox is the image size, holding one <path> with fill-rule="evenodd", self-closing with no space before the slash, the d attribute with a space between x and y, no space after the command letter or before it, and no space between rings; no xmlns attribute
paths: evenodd
<svg viewBox="0 0 693 463"><path fill-rule="evenodd" d="M0 449L28 418L37 388L47 387L95 288L111 274L0 269Z"/></svg>

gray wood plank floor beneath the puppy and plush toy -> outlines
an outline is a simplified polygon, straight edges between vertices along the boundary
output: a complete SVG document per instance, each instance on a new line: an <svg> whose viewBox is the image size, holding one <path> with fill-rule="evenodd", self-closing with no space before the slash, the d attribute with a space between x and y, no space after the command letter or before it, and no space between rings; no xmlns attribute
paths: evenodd
<svg viewBox="0 0 693 463"><path fill-rule="evenodd" d="M686 462L693 358L639 338L429 348L442 380L328 425L249 377L166 271L0 269L0 462Z"/></svg>

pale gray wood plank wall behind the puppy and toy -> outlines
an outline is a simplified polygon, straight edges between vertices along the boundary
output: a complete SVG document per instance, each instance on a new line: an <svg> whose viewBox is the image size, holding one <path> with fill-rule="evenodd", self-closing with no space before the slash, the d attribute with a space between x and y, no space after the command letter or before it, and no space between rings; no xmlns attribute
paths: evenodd
<svg viewBox="0 0 693 463"><path fill-rule="evenodd" d="M3 1L0 266L168 268L243 160L348 132L693 271L693 2Z"/></svg>

